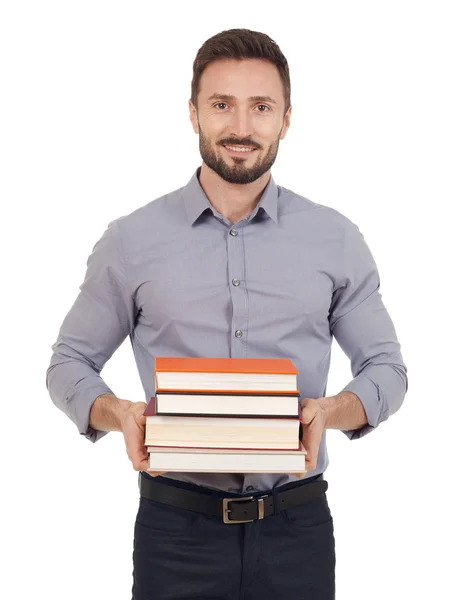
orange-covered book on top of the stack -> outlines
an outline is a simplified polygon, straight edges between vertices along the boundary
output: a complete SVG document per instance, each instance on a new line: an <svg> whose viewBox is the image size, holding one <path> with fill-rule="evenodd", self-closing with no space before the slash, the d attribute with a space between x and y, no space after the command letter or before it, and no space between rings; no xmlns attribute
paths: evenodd
<svg viewBox="0 0 454 600"><path fill-rule="evenodd" d="M298 371L288 358L158 356L156 391L299 393Z"/></svg>

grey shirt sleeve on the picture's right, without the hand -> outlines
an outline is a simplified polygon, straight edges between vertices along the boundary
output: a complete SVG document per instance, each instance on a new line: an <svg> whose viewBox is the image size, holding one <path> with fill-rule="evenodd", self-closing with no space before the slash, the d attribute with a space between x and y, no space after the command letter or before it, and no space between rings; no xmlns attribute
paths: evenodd
<svg viewBox="0 0 454 600"><path fill-rule="evenodd" d="M380 276L363 235L346 219L344 260L330 309L330 330L350 360L353 379L342 391L361 400L368 423L343 431L349 439L370 433L403 403L407 368L380 293Z"/></svg>

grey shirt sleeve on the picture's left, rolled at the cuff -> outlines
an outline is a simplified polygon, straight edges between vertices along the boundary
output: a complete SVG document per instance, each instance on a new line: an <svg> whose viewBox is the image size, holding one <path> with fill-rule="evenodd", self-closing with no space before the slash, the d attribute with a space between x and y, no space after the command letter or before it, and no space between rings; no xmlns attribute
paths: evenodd
<svg viewBox="0 0 454 600"><path fill-rule="evenodd" d="M95 399L113 393L100 373L134 327L136 309L122 256L118 219L108 224L87 260L85 279L52 346L46 386L54 404L96 442L90 427Z"/></svg>

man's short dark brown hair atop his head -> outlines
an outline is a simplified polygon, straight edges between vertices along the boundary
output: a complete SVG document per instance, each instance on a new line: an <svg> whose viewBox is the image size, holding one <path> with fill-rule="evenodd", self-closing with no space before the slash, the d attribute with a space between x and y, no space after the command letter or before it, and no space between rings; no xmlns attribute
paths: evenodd
<svg viewBox="0 0 454 600"><path fill-rule="evenodd" d="M193 64L191 101L197 108L200 78L215 60L261 58L277 67L284 86L285 112L290 106L290 72L279 46L265 33L250 29L227 29L209 38L200 47Z"/></svg>

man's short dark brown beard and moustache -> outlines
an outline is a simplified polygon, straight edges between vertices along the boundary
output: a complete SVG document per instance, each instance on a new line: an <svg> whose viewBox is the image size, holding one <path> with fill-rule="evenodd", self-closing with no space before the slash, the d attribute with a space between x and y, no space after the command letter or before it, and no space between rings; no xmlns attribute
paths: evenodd
<svg viewBox="0 0 454 600"><path fill-rule="evenodd" d="M281 129L282 130L282 129ZM280 136L279 132L279 136ZM276 160L277 151L279 149L279 136L268 148L268 152L265 156L260 159L260 155L257 150L257 159L251 167L245 165L246 160L241 157L232 157L233 165L228 164L216 150L211 146L211 142L206 137L199 124L199 150L203 162L212 169L219 177L228 183L239 183L246 184L256 181L264 173L266 173L274 164ZM219 145L237 144L244 145L253 148L258 148L255 142L251 143L250 140L233 140L225 139ZM220 152L220 151L219 151Z"/></svg>

